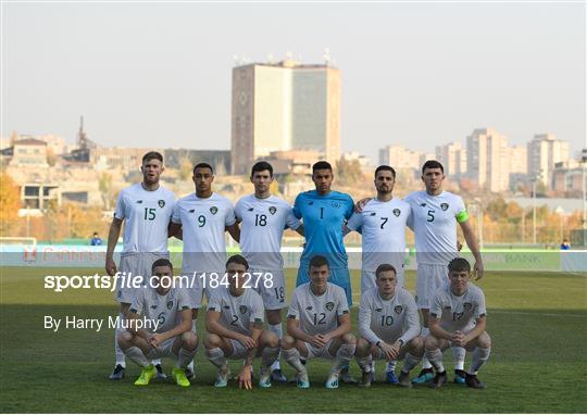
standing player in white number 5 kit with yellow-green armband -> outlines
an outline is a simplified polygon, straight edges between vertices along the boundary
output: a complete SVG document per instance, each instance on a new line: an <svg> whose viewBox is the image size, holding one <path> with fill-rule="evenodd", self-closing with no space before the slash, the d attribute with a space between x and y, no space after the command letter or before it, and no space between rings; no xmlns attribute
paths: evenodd
<svg viewBox="0 0 587 415"><path fill-rule="evenodd" d="M422 336L428 335L428 311L430 298L439 287L447 285L447 265L459 256L457 250L457 224L461 226L464 239L475 257L476 278L483 277L483 260L469 213L461 197L442 190L445 168L435 160L422 166L422 181L425 191L410 193L405 201L412 206L412 221L409 226L415 235L416 246L416 303L422 310ZM465 350L458 344L452 348L455 360L454 382L464 383ZM416 383L433 378L432 366L424 359L422 372L413 379Z"/></svg>

